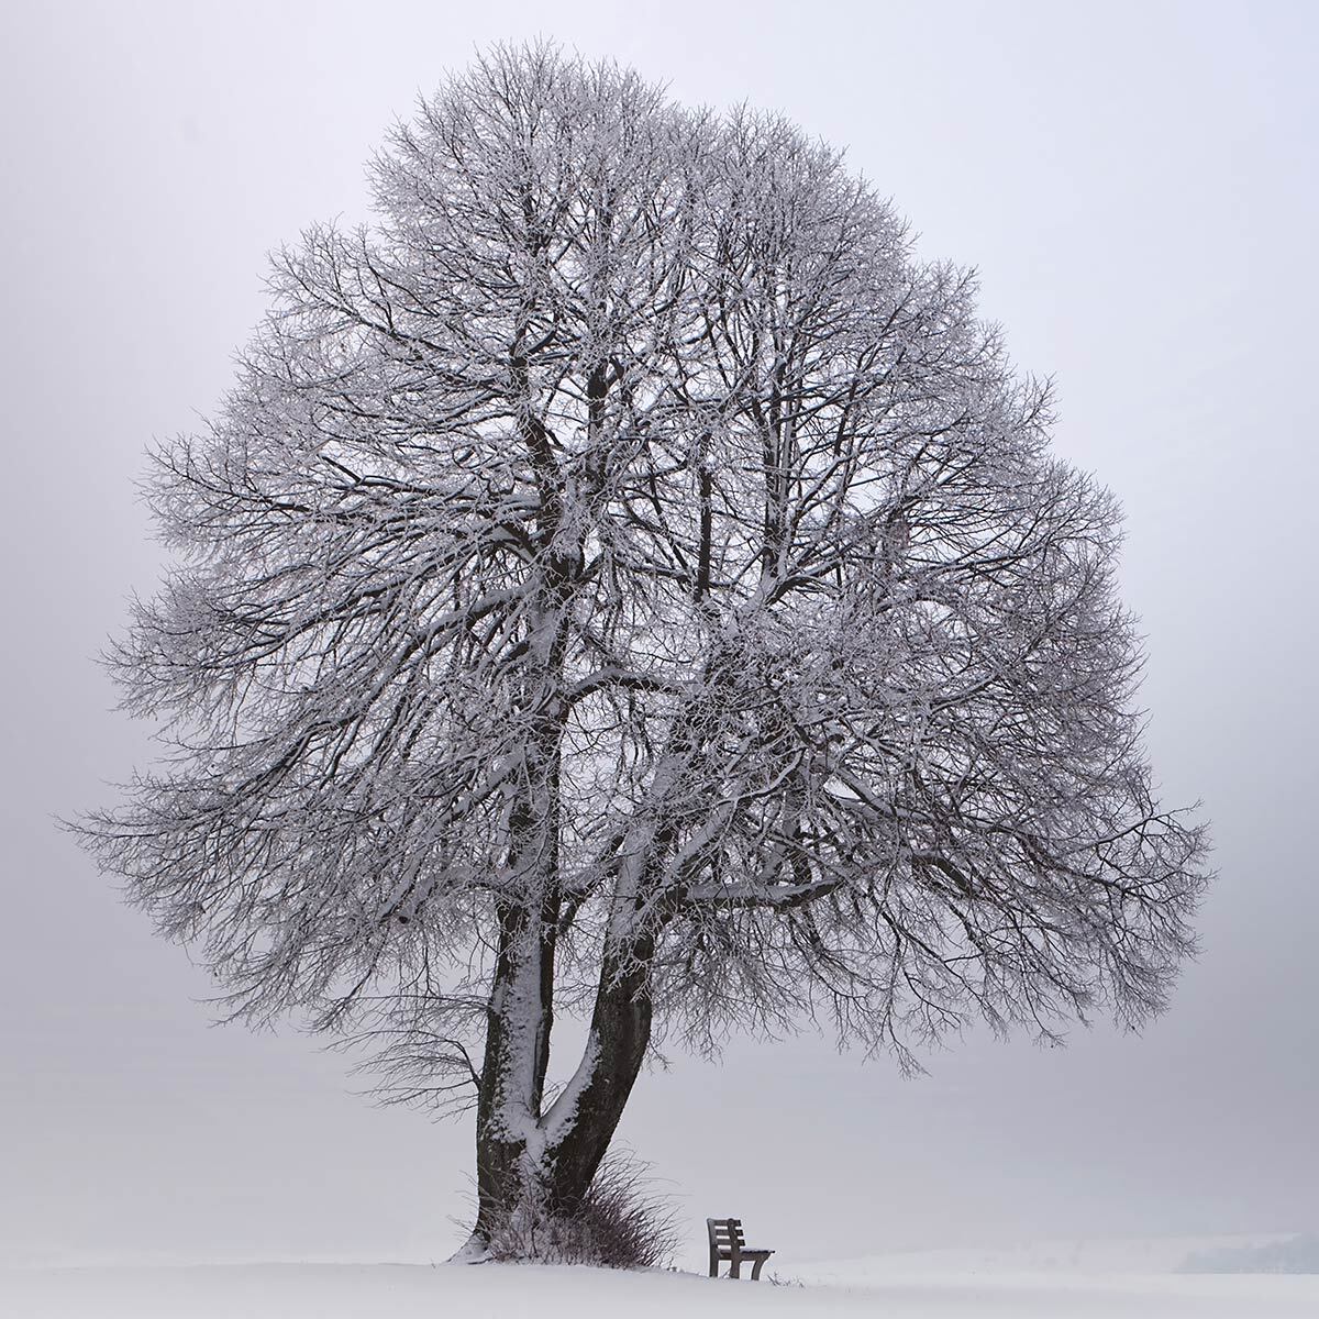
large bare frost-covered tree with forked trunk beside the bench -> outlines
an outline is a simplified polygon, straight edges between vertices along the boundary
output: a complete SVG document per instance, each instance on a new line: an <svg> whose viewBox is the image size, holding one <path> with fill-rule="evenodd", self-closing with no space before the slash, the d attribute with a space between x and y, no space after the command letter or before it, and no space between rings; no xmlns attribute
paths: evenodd
<svg viewBox="0 0 1319 1319"><path fill-rule="evenodd" d="M112 657L175 751L84 822L235 1016L475 1104L476 1241L586 1195L658 1030L1138 1022L1154 799L1119 510L839 154L499 49L314 228ZM555 1008L590 1018L547 1096Z"/></svg>

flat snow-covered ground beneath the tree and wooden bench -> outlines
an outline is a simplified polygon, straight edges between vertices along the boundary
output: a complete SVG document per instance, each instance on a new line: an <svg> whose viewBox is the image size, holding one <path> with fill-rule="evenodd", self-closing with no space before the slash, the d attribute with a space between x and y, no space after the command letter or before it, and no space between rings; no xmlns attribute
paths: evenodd
<svg viewBox="0 0 1319 1319"><path fill-rule="evenodd" d="M1210 1242L1212 1245L1212 1242ZM1319 1275L1170 1272L1203 1241L927 1252L783 1269L774 1286L690 1273L512 1265L249 1264L0 1270L5 1319L1274 1319L1319 1315Z"/></svg>

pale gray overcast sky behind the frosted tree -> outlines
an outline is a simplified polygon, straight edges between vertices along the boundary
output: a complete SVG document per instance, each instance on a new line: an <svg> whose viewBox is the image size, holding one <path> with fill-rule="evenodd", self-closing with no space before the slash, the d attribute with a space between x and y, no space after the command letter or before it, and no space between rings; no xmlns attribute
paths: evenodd
<svg viewBox="0 0 1319 1319"><path fill-rule="evenodd" d="M1155 769L1204 799L1221 871L1142 1038L971 1035L911 1082L811 1037L736 1042L644 1076L623 1138L692 1224L740 1213L786 1272L1319 1228L1319 8L29 3L0 18L0 1258L458 1242L470 1128L372 1108L293 1033L208 1029L202 973L51 816L146 756L92 663L158 562L144 446L226 388L265 252L365 218L388 123L474 46L536 34L785 111L848 146L922 256L981 270L985 317L1057 377L1058 450L1126 506ZM747 1138L703 1132L712 1105Z"/></svg>

